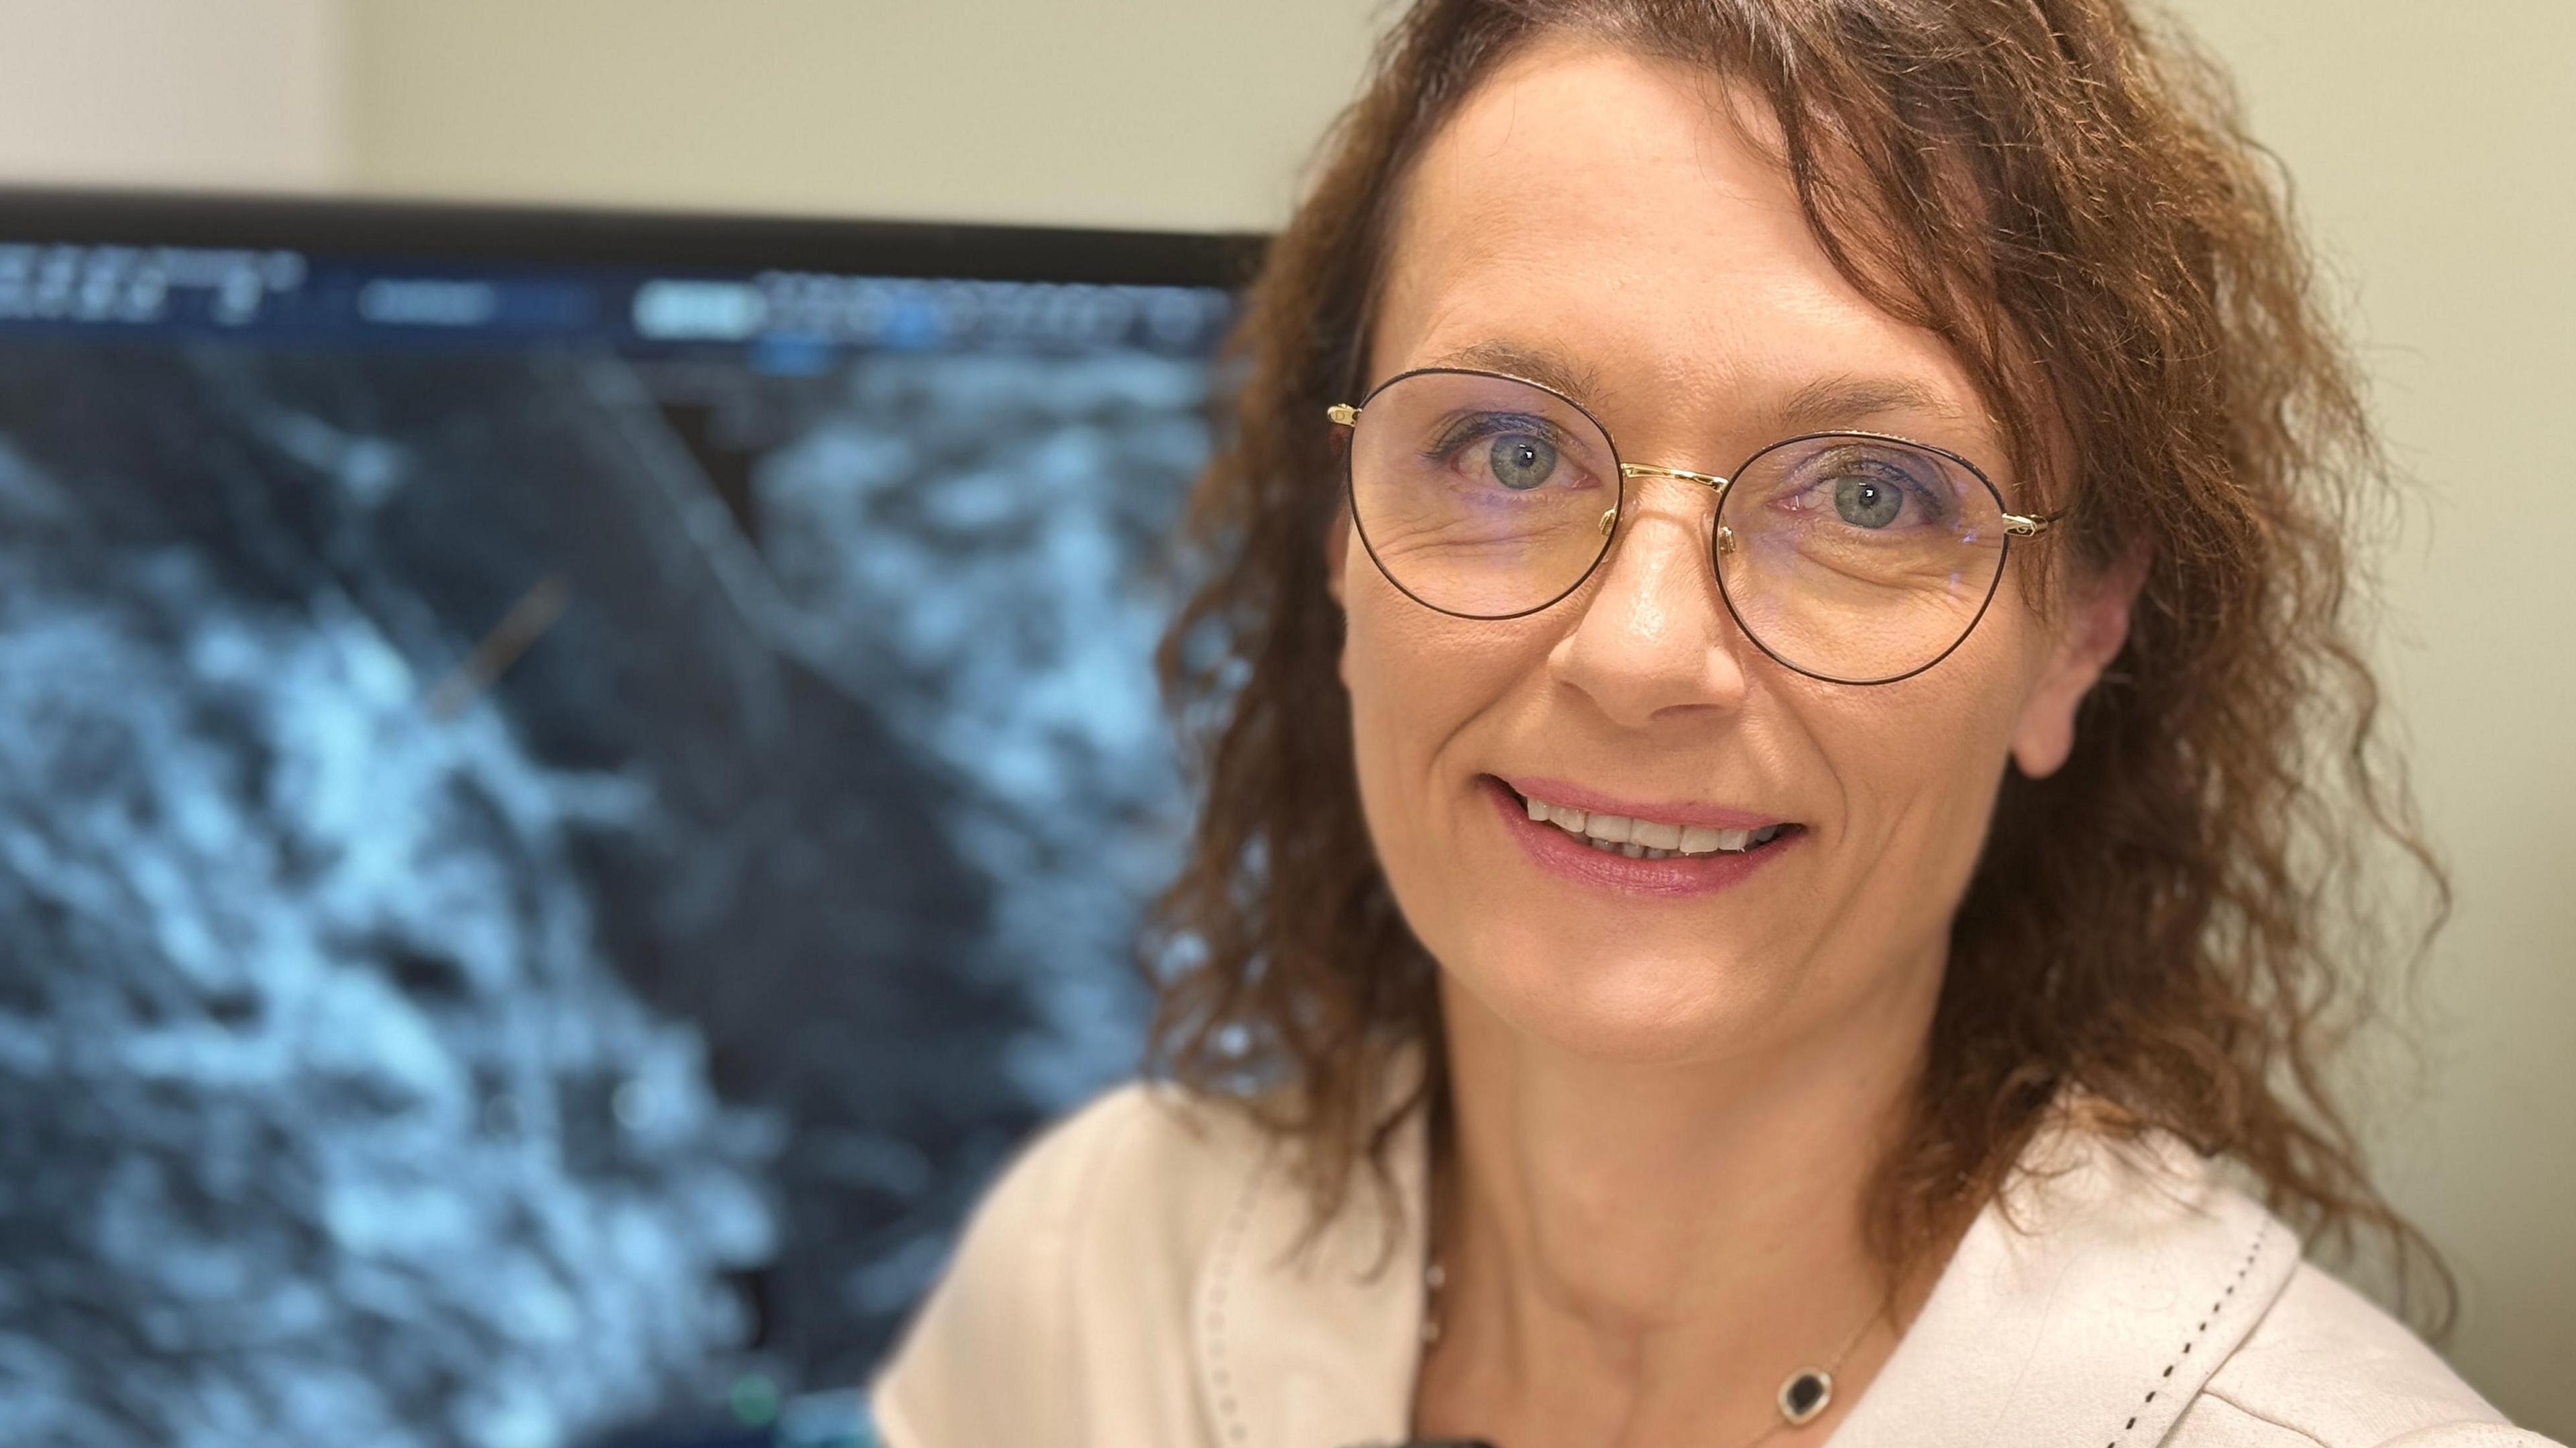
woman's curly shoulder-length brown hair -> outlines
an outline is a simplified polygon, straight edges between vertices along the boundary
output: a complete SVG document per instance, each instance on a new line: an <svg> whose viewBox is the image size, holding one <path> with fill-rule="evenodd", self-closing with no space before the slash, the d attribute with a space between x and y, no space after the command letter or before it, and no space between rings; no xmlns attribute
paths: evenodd
<svg viewBox="0 0 2576 1448"><path fill-rule="evenodd" d="M2419 866L2434 920L2447 904L2357 642L2360 533L2391 469L2223 75L2123 0L1419 0L1401 18L1252 286L1231 443L1195 497L1211 582L1162 670L1206 809L1151 946L1154 1067L1301 1144L1319 1216L1358 1165L1383 1167L1404 1113L1445 1118L1437 966L1360 817L1324 407L1363 392L1412 157L1548 33L1765 98L1814 232L1971 368L2017 472L2066 510L2066 567L2143 559L2074 757L2002 788L1873 1247L1904 1265L1942 1242L2079 1087L2115 1134L2233 1157L2311 1242L2393 1244L2401 1309L2439 1332L2450 1275L2365 1175L2326 1064L2370 1015L2372 956L2421 956L2378 855ZM2061 477L2050 435L2074 443ZM1432 1069L1388 1113L1414 1051Z"/></svg>

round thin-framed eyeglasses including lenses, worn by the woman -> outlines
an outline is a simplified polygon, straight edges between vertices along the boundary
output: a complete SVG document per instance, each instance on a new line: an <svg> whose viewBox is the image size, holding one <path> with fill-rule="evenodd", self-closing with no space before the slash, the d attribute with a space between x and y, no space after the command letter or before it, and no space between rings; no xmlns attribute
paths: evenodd
<svg viewBox="0 0 2576 1448"><path fill-rule="evenodd" d="M1986 616L2012 538L2056 515L2004 508L1968 459L1880 433L1806 433L1726 477L1623 464L1571 397L1492 371L1422 368L1334 405L1350 515L1404 595L1458 618L1561 603L1610 557L1628 482L1708 487L1710 562L1744 636L1826 683L1896 683Z"/></svg>

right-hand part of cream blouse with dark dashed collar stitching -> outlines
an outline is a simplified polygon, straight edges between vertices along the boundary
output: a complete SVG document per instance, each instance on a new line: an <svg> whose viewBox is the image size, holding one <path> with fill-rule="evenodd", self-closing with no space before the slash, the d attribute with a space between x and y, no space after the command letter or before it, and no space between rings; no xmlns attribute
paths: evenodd
<svg viewBox="0 0 2576 1448"><path fill-rule="evenodd" d="M1832 1448L2548 1445L2190 1147L2066 1126L2022 1167Z"/></svg>

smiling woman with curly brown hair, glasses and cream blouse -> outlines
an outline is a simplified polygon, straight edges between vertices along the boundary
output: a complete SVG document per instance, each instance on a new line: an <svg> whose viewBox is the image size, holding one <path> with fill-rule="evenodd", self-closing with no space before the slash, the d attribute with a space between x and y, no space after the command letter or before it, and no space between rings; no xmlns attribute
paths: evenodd
<svg viewBox="0 0 2576 1448"><path fill-rule="evenodd" d="M2421 855L2221 95L2120 0L1404 18L1167 647L1175 1085L1002 1180L889 1443L2535 1443L2303 1265L2424 1260L2318 1090Z"/></svg>

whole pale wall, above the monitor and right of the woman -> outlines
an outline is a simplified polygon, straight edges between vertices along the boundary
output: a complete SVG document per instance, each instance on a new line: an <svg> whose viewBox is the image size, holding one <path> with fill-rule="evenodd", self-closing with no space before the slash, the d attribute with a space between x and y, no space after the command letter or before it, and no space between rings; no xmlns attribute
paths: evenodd
<svg viewBox="0 0 2576 1448"><path fill-rule="evenodd" d="M1267 227L1376 10L0 0L0 175ZM2465 1278L2455 1360L2576 1440L2576 5L2182 13L2295 175L2427 484L2383 654L2458 917L2432 1077L2372 1134Z"/></svg>

